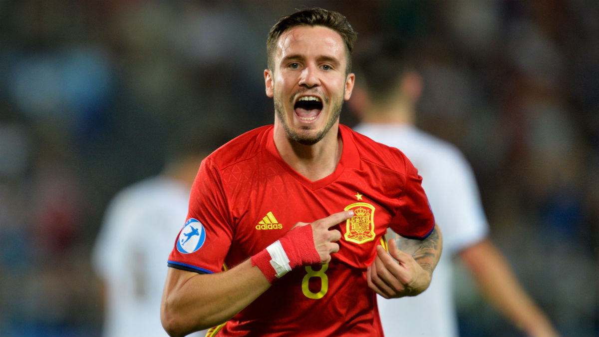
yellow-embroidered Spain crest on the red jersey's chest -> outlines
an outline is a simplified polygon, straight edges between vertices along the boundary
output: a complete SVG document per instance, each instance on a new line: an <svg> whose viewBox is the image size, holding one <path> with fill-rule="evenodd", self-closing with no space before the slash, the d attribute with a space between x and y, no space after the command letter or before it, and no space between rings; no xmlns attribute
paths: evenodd
<svg viewBox="0 0 599 337"><path fill-rule="evenodd" d="M346 241L361 244L374 240L374 206L355 203L345 207L345 210L353 210L352 218L346 221Z"/></svg>

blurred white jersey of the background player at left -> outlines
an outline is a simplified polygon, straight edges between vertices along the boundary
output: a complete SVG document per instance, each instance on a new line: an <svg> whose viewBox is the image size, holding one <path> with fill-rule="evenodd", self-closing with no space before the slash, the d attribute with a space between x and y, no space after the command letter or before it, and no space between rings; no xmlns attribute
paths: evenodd
<svg viewBox="0 0 599 337"><path fill-rule="evenodd" d="M177 180L151 177L110 201L92 253L95 272L107 287L104 336L168 336L160 303L164 257L173 245L165 237L181 230L189 191Z"/></svg>

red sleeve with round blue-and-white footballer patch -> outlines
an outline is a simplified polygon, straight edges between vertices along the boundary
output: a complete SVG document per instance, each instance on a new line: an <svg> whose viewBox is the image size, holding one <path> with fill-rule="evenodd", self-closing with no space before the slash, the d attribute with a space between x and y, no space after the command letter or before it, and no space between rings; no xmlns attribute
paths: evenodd
<svg viewBox="0 0 599 337"><path fill-rule="evenodd" d="M189 197L189 212L168 258L168 266L198 273L222 270L233 237L219 170L202 161Z"/></svg>

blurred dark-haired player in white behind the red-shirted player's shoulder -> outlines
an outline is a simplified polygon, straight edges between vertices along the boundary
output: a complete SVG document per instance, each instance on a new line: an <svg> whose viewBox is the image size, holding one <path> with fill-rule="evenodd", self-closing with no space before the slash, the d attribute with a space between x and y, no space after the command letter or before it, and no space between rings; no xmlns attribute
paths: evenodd
<svg viewBox="0 0 599 337"><path fill-rule="evenodd" d="M528 296L488 237L488 222L470 164L458 148L415 127L422 77L407 64L397 43L388 41L358 60L349 104L361 119L354 130L400 149L412 161L443 227L443 254L429 288L416 297L379 297L385 336L458 336L453 300L453 265L458 257L485 298L530 336L558 333ZM395 233L398 247L406 240ZM403 243L403 244L402 244Z"/></svg>

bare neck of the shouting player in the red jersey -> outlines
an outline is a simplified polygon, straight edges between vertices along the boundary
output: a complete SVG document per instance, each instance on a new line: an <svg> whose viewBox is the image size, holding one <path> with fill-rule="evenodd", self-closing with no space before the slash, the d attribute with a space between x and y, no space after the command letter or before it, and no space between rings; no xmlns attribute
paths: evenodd
<svg viewBox="0 0 599 337"><path fill-rule="evenodd" d="M338 123L331 127L325 137L314 145L302 145L287 136L280 125L275 124L274 144L281 158L302 176L316 181L332 174L343 152L343 140Z"/></svg>

